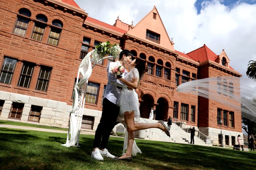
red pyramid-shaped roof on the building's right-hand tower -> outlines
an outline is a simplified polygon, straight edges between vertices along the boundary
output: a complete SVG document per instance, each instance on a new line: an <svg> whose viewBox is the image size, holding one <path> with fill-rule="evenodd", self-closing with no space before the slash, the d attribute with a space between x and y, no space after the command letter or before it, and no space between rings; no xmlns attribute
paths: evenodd
<svg viewBox="0 0 256 170"><path fill-rule="evenodd" d="M200 62L203 62L206 60L211 60L215 62L215 57L217 56L205 44L204 46L187 53L187 55L190 56L195 61L200 61Z"/></svg>

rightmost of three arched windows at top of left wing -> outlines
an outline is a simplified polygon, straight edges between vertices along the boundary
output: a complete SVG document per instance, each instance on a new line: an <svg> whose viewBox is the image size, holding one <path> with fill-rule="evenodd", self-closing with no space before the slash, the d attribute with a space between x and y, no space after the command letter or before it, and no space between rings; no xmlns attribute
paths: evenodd
<svg viewBox="0 0 256 170"><path fill-rule="evenodd" d="M55 19L52 21L51 31L48 38L48 44L52 44L55 46L58 45L62 27L63 24L60 20Z"/></svg>

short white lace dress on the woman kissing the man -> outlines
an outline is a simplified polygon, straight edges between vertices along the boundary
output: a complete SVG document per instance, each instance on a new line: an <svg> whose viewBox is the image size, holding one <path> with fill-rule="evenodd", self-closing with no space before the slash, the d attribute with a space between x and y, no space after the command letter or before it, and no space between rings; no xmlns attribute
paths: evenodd
<svg viewBox="0 0 256 170"><path fill-rule="evenodd" d="M132 82L132 79L139 79L139 72L136 68L133 68L129 73L124 77L125 80ZM134 112L134 117L140 117L139 110L139 97L135 90L128 88L123 88L120 92L117 106L120 107L119 117L123 118L125 112Z"/></svg>

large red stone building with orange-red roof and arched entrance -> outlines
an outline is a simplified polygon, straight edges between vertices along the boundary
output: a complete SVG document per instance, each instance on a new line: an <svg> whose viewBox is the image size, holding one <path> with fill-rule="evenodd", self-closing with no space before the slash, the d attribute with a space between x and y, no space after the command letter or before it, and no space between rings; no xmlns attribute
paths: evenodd
<svg viewBox="0 0 256 170"><path fill-rule="evenodd" d="M150 68L137 89L141 117L148 118L150 107L155 107L157 120L176 117L212 137L215 144L220 138L217 116L225 122L220 126L227 145L242 134L241 112L176 91L191 80L242 75L229 66L224 50L216 55L204 45L187 54L176 51L155 7L133 26L119 19L114 25L93 19L73 0L0 3L1 120L68 126L78 66L95 45L109 40L131 50ZM83 128L97 128L106 67L112 61L104 60L93 69Z"/></svg>

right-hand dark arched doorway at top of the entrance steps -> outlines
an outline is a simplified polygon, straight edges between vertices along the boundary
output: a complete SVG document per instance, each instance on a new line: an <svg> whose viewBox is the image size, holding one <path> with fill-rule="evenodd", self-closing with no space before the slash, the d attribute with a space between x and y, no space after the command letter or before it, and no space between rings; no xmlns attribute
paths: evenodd
<svg viewBox="0 0 256 170"><path fill-rule="evenodd" d="M157 100L158 105L155 108L155 120L164 120L168 118L168 109L169 109L169 104L168 101L160 97Z"/></svg>

